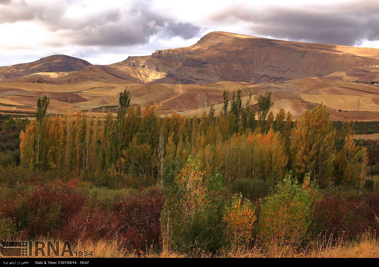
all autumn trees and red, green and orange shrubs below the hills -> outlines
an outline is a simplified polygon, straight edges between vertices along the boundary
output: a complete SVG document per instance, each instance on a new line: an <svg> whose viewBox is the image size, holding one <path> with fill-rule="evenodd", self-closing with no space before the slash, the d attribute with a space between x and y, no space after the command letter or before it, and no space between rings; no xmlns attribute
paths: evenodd
<svg viewBox="0 0 379 267"><path fill-rule="evenodd" d="M323 105L293 122L269 92L257 105L228 96L219 117L160 118L128 91L117 117L41 110L20 133L20 166L0 167L0 234L204 256L300 251L321 231L379 226L372 153L350 124L336 131Z"/></svg>

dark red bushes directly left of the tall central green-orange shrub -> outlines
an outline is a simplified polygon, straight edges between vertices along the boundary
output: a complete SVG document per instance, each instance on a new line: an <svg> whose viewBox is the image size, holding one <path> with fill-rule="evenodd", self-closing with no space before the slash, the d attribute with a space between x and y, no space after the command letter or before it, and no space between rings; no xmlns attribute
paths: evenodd
<svg viewBox="0 0 379 267"><path fill-rule="evenodd" d="M163 203L163 192L152 187L113 203L111 209L84 207L69 218L59 236L71 242L117 238L123 248L141 250L145 240L151 244L160 238Z"/></svg>

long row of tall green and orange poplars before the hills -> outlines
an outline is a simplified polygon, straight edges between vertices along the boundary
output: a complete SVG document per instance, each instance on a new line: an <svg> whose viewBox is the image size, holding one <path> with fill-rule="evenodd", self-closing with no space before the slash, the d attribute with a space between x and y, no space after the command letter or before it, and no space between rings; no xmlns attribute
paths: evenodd
<svg viewBox="0 0 379 267"><path fill-rule="evenodd" d="M240 89L231 101L228 97L225 91L219 117L212 105L200 117L174 112L160 118L153 106L143 112L141 106L130 106L125 90L117 116L108 112L100 119L81 112L46 115L49 98L44 96L38 100L36 120L20 134L21 163L29 169L100 172L163 183L168 162L183 167L192 156L209 175L221 175L226 185L241 180L275 185L290 171L300 182L309 175L323 187L365 183L366 149L352 139L351 123L336 137L325 106L305 111L293 122L284 109L274 116L268 91L257 95L257 108L252 93L244 102Z"/></svg>

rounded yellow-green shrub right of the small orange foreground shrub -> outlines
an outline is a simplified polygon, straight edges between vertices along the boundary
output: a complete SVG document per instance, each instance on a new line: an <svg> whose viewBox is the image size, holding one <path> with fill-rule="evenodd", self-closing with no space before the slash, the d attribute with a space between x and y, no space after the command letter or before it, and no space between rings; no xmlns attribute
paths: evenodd
<svg viewBox="0 0 379 267"><path fill-rule="evenodd" d="M290 176L261 200L258 219L263 241L274 247L300 244L311 223L312 193Z"/></svg>

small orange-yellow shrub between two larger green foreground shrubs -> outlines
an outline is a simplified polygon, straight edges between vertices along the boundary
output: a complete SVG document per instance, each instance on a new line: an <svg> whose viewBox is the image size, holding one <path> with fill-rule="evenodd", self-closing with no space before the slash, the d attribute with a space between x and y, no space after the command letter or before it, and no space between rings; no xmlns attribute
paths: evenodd
<svg viewBox="0 0 379 267"><path fill-rule="evenodd" d="M225 206L222 220L226 223L224 236L231 248L237 245L248 245L252 239L255 222L255 207L242 194L234 194L232 202Z"/></svg>

